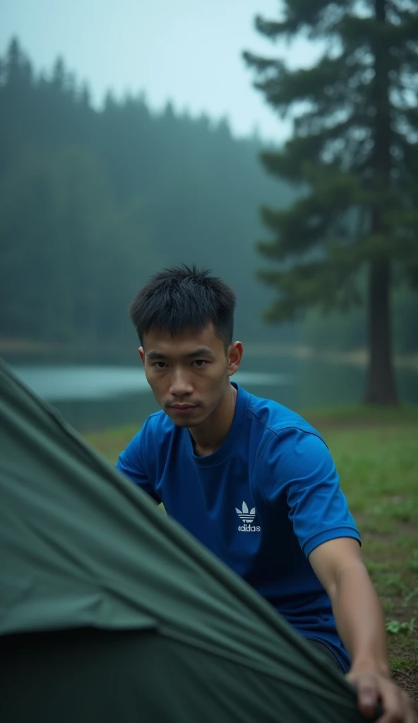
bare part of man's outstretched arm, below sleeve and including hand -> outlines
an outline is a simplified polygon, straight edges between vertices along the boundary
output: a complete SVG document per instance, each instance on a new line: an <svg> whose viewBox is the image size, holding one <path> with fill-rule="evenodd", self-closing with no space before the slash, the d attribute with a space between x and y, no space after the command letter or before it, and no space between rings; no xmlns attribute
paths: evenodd
<svg viewBox="0 0 418 723"><path fill-rule="evenodd" d="M358 690L360 711L372 716L380 699L380 723L414 723L409 697L390 680L385 618L358 542L329 540L313 549L309 560L330 597L338 633L351 655L347 677Z"/></svg>

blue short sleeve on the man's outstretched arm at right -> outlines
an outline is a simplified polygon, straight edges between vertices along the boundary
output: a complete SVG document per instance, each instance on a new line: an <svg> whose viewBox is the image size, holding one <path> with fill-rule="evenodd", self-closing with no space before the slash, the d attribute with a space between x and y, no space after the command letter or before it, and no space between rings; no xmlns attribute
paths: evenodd
<svg viewBox="0 0 418 723"><path fill-rule="evenodd" d="M273 435L260 460L258 484L265 502L287 505L306 557L337 537L360 542L333 458L314 432L289 428Z"/></svg>

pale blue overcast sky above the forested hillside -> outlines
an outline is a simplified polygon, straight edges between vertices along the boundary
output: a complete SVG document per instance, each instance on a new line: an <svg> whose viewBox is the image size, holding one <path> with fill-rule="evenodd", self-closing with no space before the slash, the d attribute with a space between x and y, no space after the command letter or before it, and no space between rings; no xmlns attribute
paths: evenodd
<svg viewBox="0 0 418 723"><path fill-rule="evenodd" d="M236 136L257 132L281 142L289 121L278 118L252 87L242 51L309 67L319 48L307 40L271 43L257 33L257 14L277 20L281 0L0 0L0 54L16 35L37 70L57 56L93 103L145 93L151 108L168 100L192 116L226 116Z"/></svg>

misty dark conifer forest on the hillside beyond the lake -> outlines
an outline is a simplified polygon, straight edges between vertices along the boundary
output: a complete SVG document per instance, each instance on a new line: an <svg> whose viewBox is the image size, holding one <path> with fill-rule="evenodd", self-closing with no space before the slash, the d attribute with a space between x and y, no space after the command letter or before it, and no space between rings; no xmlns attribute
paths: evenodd
<svg viewBox="0 0 418 723"><path fill-rule="evenodd" d="M145 98L90 102L62 59L36 74L18 40L0 59L0 335L129 343L129 301L148 276L207 265L234 286L237 330L270 330L255 278L257 206L295 195L260 167L256 137Z"/></svg>

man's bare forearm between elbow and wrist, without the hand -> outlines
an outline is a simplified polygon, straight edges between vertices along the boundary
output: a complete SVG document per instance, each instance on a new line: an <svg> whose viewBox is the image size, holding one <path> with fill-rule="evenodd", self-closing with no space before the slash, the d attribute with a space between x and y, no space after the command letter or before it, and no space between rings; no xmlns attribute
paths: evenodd
<svg viewBox="0 0 418 723"><path fill-rule="evenodd" d="M330 597L351 669L372 667L390 675L385 618L364 565L358 562L341 570Z"/></svg>

